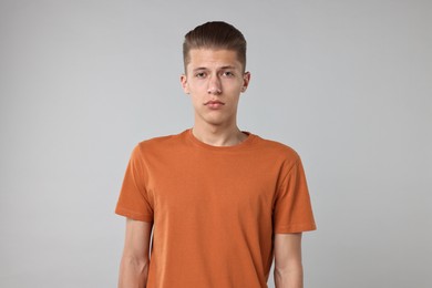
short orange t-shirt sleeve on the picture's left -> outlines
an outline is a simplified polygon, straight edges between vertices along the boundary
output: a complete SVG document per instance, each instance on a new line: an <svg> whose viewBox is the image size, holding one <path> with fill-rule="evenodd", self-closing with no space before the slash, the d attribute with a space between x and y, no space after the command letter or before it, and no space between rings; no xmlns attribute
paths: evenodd
<svg viewBox="0 0 432 288"><path fill-rule="evenodd" d="M145 183L147 172L140 145L131 155L115 213L135 220L153 222L153 205Z"/></svg>

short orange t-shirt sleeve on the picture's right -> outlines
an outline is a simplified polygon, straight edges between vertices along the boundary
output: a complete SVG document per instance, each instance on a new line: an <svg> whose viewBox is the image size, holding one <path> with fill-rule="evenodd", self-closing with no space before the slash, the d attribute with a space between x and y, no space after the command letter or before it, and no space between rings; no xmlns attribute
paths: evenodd
<svg viewBox="0 0 432 288"><path fill-rule="evenodd" d="M274 206L274 233L315 230L316 224L300 158L278 187Z"/></svg>

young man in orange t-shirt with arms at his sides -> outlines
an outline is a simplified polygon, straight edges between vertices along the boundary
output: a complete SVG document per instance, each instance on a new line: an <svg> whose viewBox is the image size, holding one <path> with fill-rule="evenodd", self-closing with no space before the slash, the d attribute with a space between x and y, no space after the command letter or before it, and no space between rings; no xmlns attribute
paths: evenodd
<svg viewBox="0 0 432 288"><path fill-rule="evenodd" d="M183 90L194 126L141 142L116 213L127 217L121 288L302 287L301 233L316 228L297 153L237 127L246 41L225 22L188 32ZM150 254L150 238L153 240Z"/></svg>

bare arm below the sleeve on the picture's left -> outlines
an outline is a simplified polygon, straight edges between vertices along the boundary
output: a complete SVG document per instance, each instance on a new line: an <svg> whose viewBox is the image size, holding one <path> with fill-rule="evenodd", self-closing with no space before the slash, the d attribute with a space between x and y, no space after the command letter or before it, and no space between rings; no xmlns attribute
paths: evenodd
<svg viewBox="0 0 432 288"><path fill-rule="evenodd" d="M119 288L144 288L148 274L152 223L126 219L126 236L120 265Z"/></svg>

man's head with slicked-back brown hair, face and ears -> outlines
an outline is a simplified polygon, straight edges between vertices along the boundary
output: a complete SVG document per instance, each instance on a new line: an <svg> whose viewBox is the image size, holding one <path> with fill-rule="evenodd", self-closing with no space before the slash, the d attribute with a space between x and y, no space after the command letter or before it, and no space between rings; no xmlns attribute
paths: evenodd
<svg viewBox="0 0 432 288"><path fill-rule="evenodd" d="M239 96L250 80L243 34L225 22L207 22L186 34L183 52L181 82L195 110L194 126L236 127Z"/></svg>

